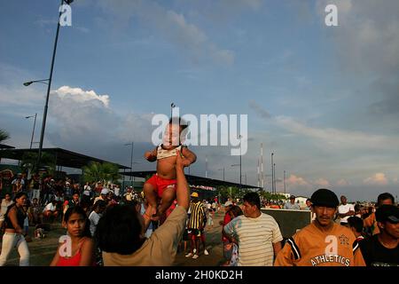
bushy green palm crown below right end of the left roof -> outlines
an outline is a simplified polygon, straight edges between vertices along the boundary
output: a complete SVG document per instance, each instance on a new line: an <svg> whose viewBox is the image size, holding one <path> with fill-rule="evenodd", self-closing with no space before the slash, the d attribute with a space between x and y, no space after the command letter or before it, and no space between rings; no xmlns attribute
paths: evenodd
<svg viewBox="0 0 399 284"><path fill-rule="evenodd" d="M114 182L121 178L119 168L112 162L90 162L87 166L82 167L83 179L85 182L103 183Z"/></svg>

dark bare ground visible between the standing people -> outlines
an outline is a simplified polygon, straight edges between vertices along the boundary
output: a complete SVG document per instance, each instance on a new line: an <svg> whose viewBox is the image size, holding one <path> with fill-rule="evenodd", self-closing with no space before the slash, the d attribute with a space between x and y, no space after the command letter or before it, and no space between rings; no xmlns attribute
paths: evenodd
<svg viewBox="0 0 399 284"><path fill-rule="evenodd" d="M186 252L179 251L176 255L176 266L218 266L223 263L223 245L221 241L222 226L219 225L219 221L223 219L223 213L215 214L214 226L207 227L206 240L208 256L200 253L200 257L197 259L187 258L185 254L190 249L190 244L187 243ZM35 228L29 228L29 234L32 235ZM65 234L65 229L59 224L52 224L51 231L46 232L46 238L42 240L33 239L32 242L28 242L27 245L30 251L30 265L32 266L48 266L51 263L52 257L54 256L58 247L59 237ZM1 241L1 239L0 239ZM1 247L0 247L1 249ZM200 246L202 250L202 246ZM12 250L12 254L9 257L6 265L19 265L20 257L16 249Z"/></svg>

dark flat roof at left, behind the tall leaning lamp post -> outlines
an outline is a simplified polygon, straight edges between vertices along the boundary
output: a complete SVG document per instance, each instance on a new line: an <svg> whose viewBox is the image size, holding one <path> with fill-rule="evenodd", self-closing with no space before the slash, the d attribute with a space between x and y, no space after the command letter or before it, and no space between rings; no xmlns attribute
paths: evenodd
<svg viewBox="0 0 399 284"><path fill-rule="evenodd" d="M0 158L21 160L24 154L38 153L39 149L16 149L8 148L0 150ZM81 169L83 166L88 165L90 162L109 162L85 154L75 153L62 148L43 148L42 153L52 154L56 157L56 165L61 167L68 167L74 169ZM114 163L114 162L113 162ZM130 169L129 167L116 164L119 169Z"/></svg>

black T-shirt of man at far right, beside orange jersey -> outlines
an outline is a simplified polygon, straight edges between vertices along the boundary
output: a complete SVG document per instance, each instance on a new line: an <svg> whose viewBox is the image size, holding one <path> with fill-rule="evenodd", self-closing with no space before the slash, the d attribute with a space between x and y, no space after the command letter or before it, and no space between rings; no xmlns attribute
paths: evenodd
<svg viewBox="0 0 399 284"><path fill-rule="evenodd" d="M379 243L378 234L359 242L367 266L399 266L399 245L386 248Z"/></svg>

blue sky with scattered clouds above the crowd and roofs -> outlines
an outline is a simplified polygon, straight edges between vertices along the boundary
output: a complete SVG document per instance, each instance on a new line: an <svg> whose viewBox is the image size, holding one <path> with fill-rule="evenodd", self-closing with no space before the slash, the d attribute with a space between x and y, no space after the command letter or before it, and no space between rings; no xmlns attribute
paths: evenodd
<svg viewBox="0 0 399 284"><path fill-rule="evenodd" d="M0 2L0 129L39 141L60 1ZM327 4L338 26L327 26ZM326 187L349 201L399 193L396 0L75 0L61 27L44 147L153 170L154 114L246 114L242 182L263 146L277 191ZM34 146L37 146L35 144ZM190 146L191 174L239 182L230 146ZM206 162L207 160L207 162Z"/></svg>

